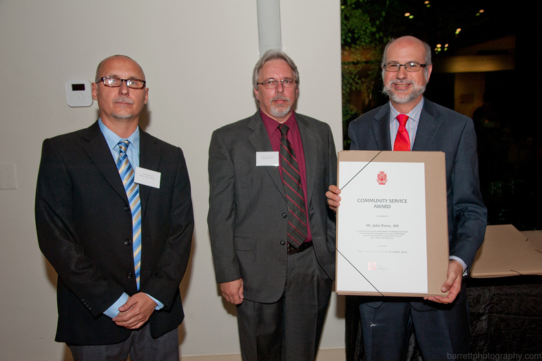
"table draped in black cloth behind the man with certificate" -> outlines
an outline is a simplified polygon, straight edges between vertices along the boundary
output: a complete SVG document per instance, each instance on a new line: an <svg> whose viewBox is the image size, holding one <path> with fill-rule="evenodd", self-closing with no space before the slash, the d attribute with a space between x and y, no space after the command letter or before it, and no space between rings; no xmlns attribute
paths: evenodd
<svg viewBox="0 0 542 361"><path fill-rule="evenodd" d="M542 276L468 278L470 353L542 353ZM359 297L346 296L346 360L365 360L359 324ZM540 355L539 355L540 357ZM422 360L410 339L408 361ZM540 358L536 358L540 360Z"/></svg>

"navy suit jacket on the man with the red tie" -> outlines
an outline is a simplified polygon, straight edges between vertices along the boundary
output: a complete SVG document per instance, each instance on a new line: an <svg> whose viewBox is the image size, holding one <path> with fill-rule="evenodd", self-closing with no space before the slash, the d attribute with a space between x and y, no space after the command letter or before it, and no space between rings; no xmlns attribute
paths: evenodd
<svg viewBox="0 0 542 361"><path fill-rule="evenodd" d="M390 108L386 104L353 121L348 127L350 149L391 150L389 117ZM424 99L412 150L446 154L450 255L461 258L470 269L487 224L478 178L474 124L467 116Z"/></svg>

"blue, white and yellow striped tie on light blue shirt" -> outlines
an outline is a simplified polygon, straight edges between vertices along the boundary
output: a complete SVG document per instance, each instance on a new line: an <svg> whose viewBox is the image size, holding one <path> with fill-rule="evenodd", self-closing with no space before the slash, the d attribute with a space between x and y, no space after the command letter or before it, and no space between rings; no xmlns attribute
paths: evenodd
<svg viewBox="0 0 542 361"><path fill-rule="evenodd" d="M128 160L126 150L130 142L123 139L118 142L118 148L121 149L116 161L118 173L121 174L124 189L128 196L130 209L132 210L132 249L134 250L134 269L136 271L137 289L139 290L139 271L141 266L141 202L139 200L139 185L134 182L134 169Z"/></svg>

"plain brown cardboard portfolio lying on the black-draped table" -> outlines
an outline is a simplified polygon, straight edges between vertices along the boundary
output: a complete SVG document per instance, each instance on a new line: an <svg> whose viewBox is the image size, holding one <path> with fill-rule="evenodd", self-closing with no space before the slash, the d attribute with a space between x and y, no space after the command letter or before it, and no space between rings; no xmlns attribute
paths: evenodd
<svg viewBox="0 0 542 361"><path fill-rule="evenodd" d="M542 275L542 232L490 225L470 269L473 278Z"/></svg>

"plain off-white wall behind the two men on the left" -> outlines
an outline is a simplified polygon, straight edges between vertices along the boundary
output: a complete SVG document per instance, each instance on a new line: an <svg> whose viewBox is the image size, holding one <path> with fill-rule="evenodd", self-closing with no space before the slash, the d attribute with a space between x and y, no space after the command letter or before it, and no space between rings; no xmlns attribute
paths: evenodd
<svg viewBox="0 0 542 361"><path fill-rule="evenodd" d="M300 69L298 112L328 122L340 145L340 3L280 6L282 44ZM150 89L145 130L179 145L187 158L196 230L181 285L181 355L238 353L236 318L213 274L207 149L214 129L257 109L256 0L0 0L0 34L0 164L15 163L19 183L0 190L0 359L70 358L54 342L56 274L37 245L34 190L43 139L97 117L96 103L67 106L65 81L92 81L111 54L143 67ZM322 348L344 347L342 312L333 295Z"/></svg>

